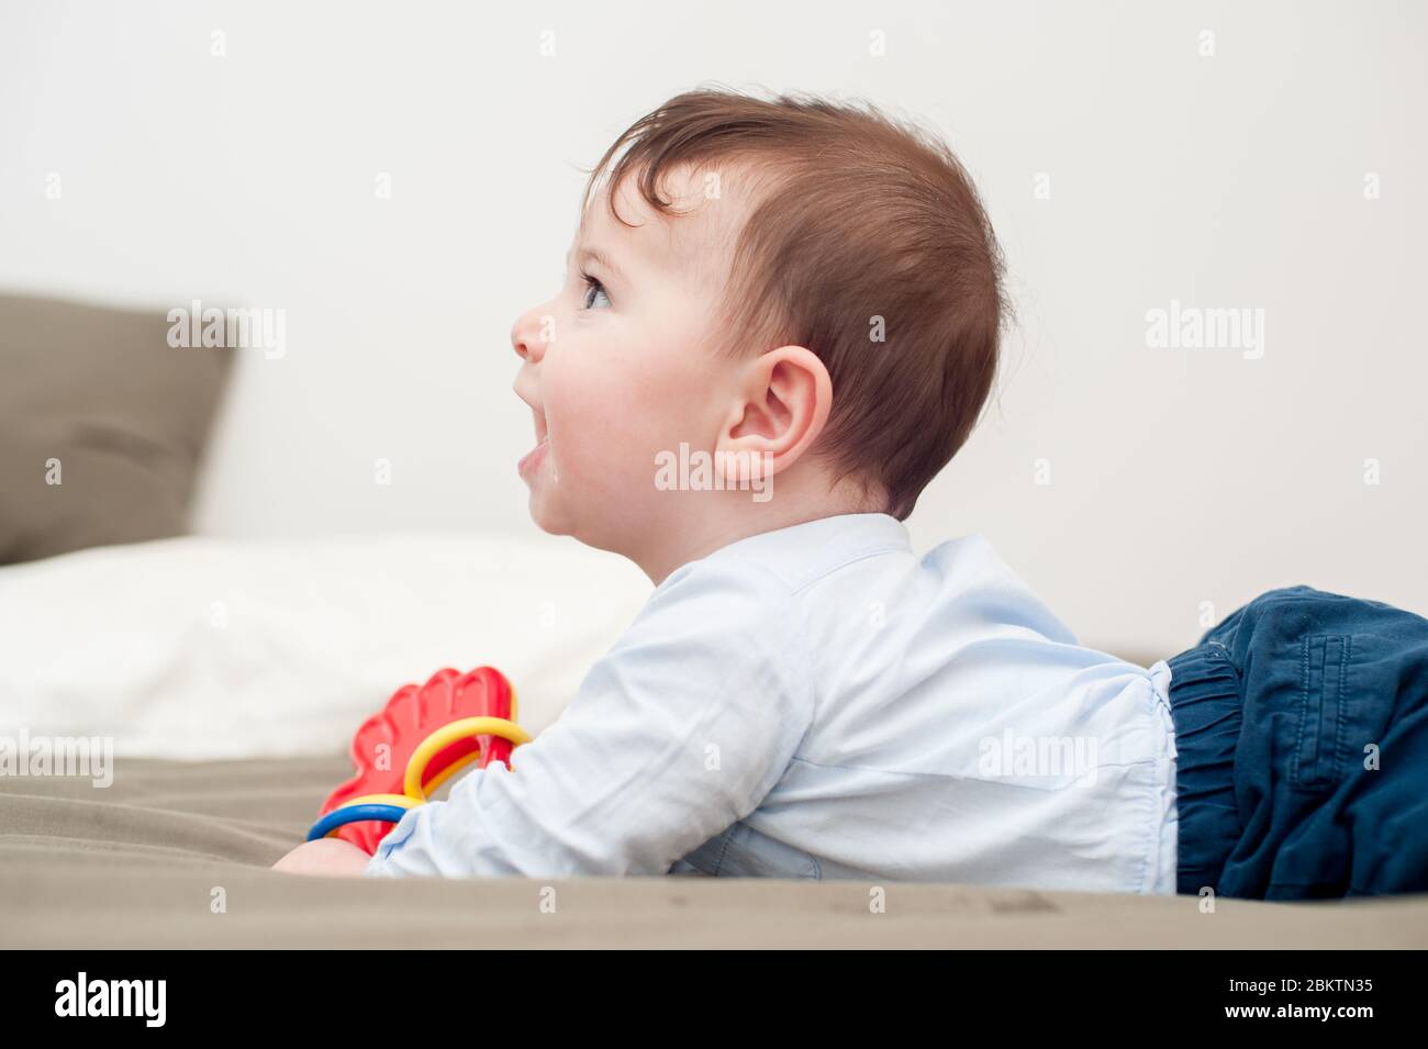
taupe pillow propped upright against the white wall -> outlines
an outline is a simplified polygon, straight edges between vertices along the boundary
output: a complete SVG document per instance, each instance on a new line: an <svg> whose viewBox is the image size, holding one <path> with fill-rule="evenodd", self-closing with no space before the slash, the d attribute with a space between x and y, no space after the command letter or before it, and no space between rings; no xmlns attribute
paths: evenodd
<svg viewBox="0 0 1428 1049"><path fill-rule="evenodd" d="M176 350L169 327L163 307L0 295L0 564L188 529L236 351Z"/></svg>

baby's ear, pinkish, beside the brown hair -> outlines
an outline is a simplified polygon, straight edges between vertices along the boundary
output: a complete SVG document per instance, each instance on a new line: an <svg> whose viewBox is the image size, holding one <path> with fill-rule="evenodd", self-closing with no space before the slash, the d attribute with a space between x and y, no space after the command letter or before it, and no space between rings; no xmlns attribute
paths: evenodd
<svg viewBox="0 0 1428 1049"><path fill-rule="evenodd" d="M791 467L818 440L833 410L828 370L801 345L748 361L741 388L718 451L758 455L770 472Z"/></svg>

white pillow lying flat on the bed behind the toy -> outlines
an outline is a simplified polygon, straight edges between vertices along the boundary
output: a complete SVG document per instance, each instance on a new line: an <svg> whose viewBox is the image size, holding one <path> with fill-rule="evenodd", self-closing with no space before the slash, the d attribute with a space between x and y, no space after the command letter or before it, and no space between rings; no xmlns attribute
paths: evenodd
<svg viewBox="0 0 1428 1049"><path fill-rule="evenodd" d="M650 589L541 535L190 535L13 565L0 731L163 758L346 752L401 685L490 664L536 732Z"/></svg>

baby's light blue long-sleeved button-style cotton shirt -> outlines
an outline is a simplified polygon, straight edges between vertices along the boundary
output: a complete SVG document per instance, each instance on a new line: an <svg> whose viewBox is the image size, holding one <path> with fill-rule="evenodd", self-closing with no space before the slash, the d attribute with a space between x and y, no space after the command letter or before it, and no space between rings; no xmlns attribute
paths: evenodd
<svg viewBox="0 0 1428 1049"><path fill-rule="evenodd" d="M1082 648L981 535L885 514L670 575L561 716L407 812L397 875L1175 891L1170 669Z"/></svg>

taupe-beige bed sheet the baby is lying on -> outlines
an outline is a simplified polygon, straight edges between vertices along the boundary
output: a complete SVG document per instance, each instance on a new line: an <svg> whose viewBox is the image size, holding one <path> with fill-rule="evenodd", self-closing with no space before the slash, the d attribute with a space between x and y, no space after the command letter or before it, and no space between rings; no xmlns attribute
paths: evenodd
<svg viewBox="0 0 1428 1049"><path fill-rule="evenodd" d="M346 758L333 756L121 759L106 789L87 779L0 778L0 946L1428 946L1428 896L1220 901L1202 913L1192 898L890 882L877 913L864 882L387 881L268 871L348 774Z"/></svg>

